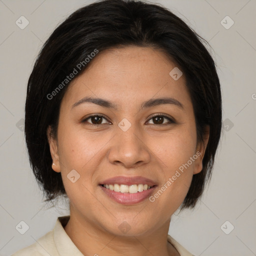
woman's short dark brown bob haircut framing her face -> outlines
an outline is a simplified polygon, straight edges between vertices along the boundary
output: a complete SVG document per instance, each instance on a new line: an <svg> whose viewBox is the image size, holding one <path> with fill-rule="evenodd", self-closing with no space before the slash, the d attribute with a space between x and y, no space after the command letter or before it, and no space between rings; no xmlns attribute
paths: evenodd
<svg viewBox="0 0 256 256"><path fill-rule="evenodd" d="M206 42L167 8L139 0L100 0L77 9L55 28L36 58L25 102L29 162L46 196L44 201L66 196L60 173L51 168L46 130L50 125L51 135L56 138L60 102L70 82L61 86L53 99L49 94L78 63L83 65L80 70L76 68L75 77L86 70L93 59L88 64L84 59L95 49L100 53L133 45L161 50L183 72L193 105L197 141L202 141L204 128L209 126L202 170L193 175L181 204L181 209L194 207L211 177L222 123L219 79L203 41Z"/></svg>

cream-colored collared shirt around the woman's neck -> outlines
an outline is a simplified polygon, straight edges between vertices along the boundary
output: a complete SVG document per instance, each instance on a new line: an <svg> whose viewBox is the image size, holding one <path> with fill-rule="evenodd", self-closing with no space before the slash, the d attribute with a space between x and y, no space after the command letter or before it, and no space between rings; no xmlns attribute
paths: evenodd
<svg viewBox="0 0 256 256"><path fill-rule="evenodd" d="M58 217L51 231L37 239L37 241L30 246L16 251L11 256L84 256L65 232L64 226L69 217L69 215ZM167 241L176 248L180 256L194 256L169 234ZM94 255L97 254L95 253Z"/></svg>

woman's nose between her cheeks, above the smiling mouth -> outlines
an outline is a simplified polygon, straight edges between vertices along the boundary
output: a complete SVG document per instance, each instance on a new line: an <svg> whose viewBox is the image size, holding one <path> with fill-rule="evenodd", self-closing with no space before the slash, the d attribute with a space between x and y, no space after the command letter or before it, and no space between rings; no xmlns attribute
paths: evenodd
<svg viewBox="0 0 256 256"><path fill-rule="evenodd" d="M126 168L136 168L150 161L150 150L146 145L145 136L138 132L135 125L122 131L117 128L111 141L108 161Z"/></svg>

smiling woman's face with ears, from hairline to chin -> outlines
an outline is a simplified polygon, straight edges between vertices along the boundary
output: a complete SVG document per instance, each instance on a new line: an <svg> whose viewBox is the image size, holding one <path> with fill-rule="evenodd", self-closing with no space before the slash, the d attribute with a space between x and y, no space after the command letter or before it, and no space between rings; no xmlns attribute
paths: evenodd
<svg viewBox="0 0 256 256"><path fill-rule="evenodd" d="M61 172L71 214L115 235L156 231L202 168L185 77L164 53L149 47L105 50L91 61L61 101L57 141L49 141L53 168ZM74 106L84 97L104 101ZM160 98L165 99L153 101ZM132 193L141 185L125 186L123 179L116 183L131 192L121 193L101 185L115 176L142 176L154 186Z"/></svg>

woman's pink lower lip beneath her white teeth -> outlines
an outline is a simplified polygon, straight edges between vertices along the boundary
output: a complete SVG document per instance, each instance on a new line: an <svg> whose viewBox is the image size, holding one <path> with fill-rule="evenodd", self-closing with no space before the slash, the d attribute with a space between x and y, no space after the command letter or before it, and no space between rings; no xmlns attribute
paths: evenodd
<svg viewBox="0 0 256 256"><path fill-rule="evenodd" d="M99 186L106 193L106 195L108 195L110 198L112 198L113 200L121 204L135 204L135 203L141 202L147 197L149 197L150 194L153 193L153 190L156 187L156 186L153 186L147 190L143 190L141 192L136 192L136 193L121 193L121 192L115 192L113 190L107 189L101 185Z"/></svg>

